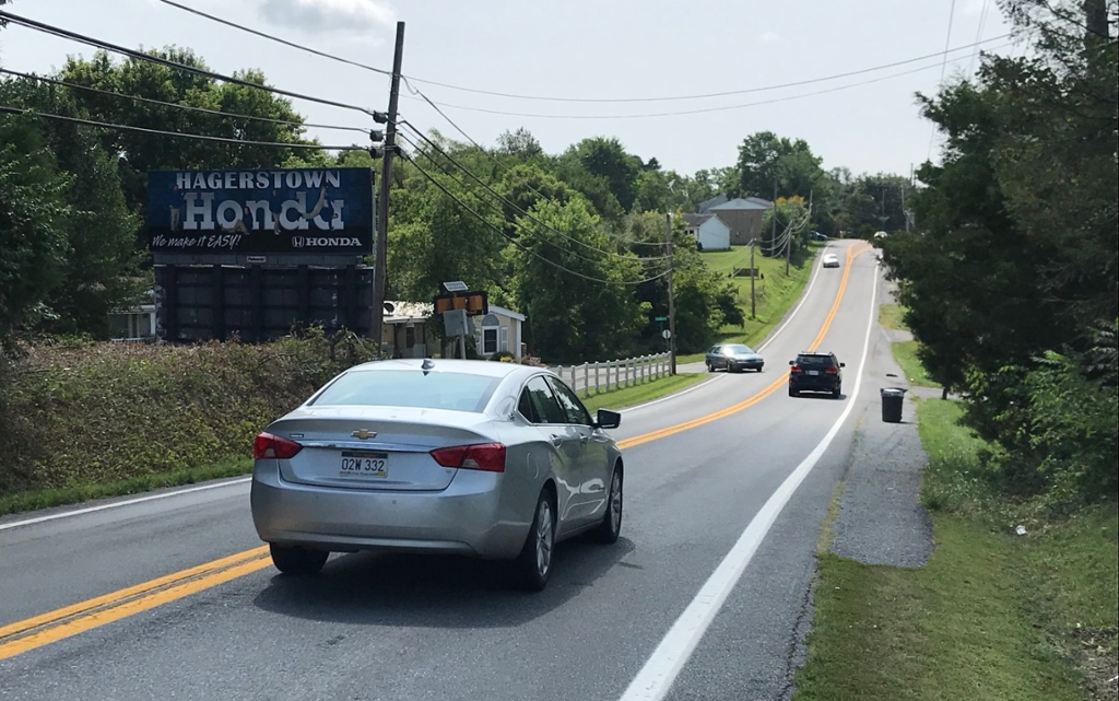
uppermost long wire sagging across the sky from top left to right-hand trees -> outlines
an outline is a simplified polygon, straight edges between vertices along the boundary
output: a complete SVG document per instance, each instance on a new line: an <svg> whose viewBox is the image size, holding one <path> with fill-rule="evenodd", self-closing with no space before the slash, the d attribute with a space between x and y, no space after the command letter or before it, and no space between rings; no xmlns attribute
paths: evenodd
<svg viewBox="0 0 1119 701"><path fill-rule="evenodd" d="M210 15L208 12L204 12L201 10L197 10L195 8L187 7L187 6L182 4L181 2L176 2L175 0L159 0L159 1L162 2L163 4L169 6L169 7L173 7L173 8L177 8L179 10L182 10L182 11L186 11L186 12L190 12L191 15L206 18L206 19L208 19L210 21L218 22L218 24L224 25L226 27L231 27L231 28L237 29L239 31L245 31L245 32L251 34L253 36L261 37L261 38L267 39L270 41L275 41L276 44L281 44L283 46L295 48L295 49L299 49L301 52L305 52L308 54L312 54L314 56L319 56L321 58L327 58L329 60L335 60L337 63L341 63L341 64L345 64L345 65L348 65L348 66L354 66L356 68L361 68L364 71L372 71L373 73L377 73L377 74L385 75L385 76L392 75L392 72L391 71L386 71L385 68L378 68L376 66L370 66L368 64L364 64L364 63L360 63L360 62L357 62L357 60L351 60L349 58L337 56L335 54L329 54L327 52L321 52L319 49L311 48L311 47L308 47L305 45L297 44L294 41L290 41L288 39L283 39L281 37L276 37L276 36L274 36L272 34L267 34L267 32L261 31L258 29L253 29L252 27L246 27L246 26L244 26L242 24L234 22L234 21L228 20L228 19L224 19L224 18L218 17L216 15ZM996 41L998 39L1003 39L1003 38L1006 38L1008 36L1010 36L1010 35L1007 34L1007 35L1003 35L1002 37L993 37L991 39L987 39L986 41ZM986 43L986 41L982 41L982 43ZM838 73L838 74L835 74L835 75L828 75L828 76L816 77L816 78L808 78L808 80L803 80L803 81L793 81L793 82L790 82L790 83L782 83L782 84L778 84L778 85L765 85L765 86L760 86L760 87L747 87L747 88L723 91L723 92L716 92L716 93L697 93L697 94L689 94L689 95L667 95L667 96L655 96L655 97L560 97L560 96L552 96L552 95L519 95L519 94L516 94L516 93L507 93L507 92L501 92L501 91L481 90L481 88L476 88L476 87L464 87L464 86L461 86L461 85L453 85L451 83L442 83L442 82L439 82L439 81L431 81L431 80L421 78L421 77L416 77L416 76L405 75L405 76L402 76L402 77L411 80L414 83L421 83L421 84L424 84L424 85L433 85L433 86L438 86L438 87L445 87L448 90L453 90L453 91L459 91L459 92L464 92L464 93L473 93L473 94L479 94L479 95L491 95L491 96L495 96L495 97L506 97L506 99L509 99L509 100L527 100L527 101L538 101L538 102L567 102L567 103L600 103L600 104L601 103L614 103L614 104L618 104L618 103L641 103L641 102L680 102L680 101L694 101L694 100L708 100L708 99L713 99L713 97L728 97L728 96L732 96L732 95L744 95L744 94L750 94L750 93L760 93L760 92L768 92L768 91L774 91L774 90L783 90L783 88L788 88L788 87L800 87L800 86L803 86L803 85L811 85L811 84L815 84L815 83L824 83L824 82L827 82L827 81L835 81L835 80L845 78L845 77L853 77L853 76L857 76L857 75L864 75L866 73L873 73L875 71L885 71L886 68L896 68L897 66L904 66L904 65L908 65L908 64L912 64L912 63L918 63L918 62L921 62L921 60L925 60L925 59L929 59L929 58L938 58L938 57L940 57L941 55L943 55L946 53L955 53L955 52L958 52L958 50L969 49L969 48L972 48L975 46L978 46L978 44L981 44L981 43L977 41L977 44L975 44L975 45L970 45L969 44L967 46L958 46L958 47L956 47L953 49L950 49L950 50L948 49L948 47L946 47L944 52L937 52L934 54L927 54L924 56L916 56L916 57L913 57L913 58L906 58L904 60L897 60L897 62L893 62L893 63L888 63L888 64L882 64L882 65L872 66L872 67L868 67L868 68L861 68L861 69L857 69L857 71L849 71L849 72L846 72L846 73Z"/></svg>

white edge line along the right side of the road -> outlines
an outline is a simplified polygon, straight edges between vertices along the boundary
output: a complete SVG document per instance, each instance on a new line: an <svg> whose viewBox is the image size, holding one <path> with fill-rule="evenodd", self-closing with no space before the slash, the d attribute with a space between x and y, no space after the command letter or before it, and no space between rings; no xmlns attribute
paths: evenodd
<svg viewBox="0 0 1119 701"><path fill-rule="evenodd" d="M792 497L808 474L816 467L816 464L824 456L824 452L839 433L839 429L855 409L858 392L863 385L863 371L866 368L866 358L871 348L871 333L874 330L874 315L877 310L878 292L878 265L874 267L874 287L871 292L871 316L866 327L866 337L863 342L863 359L855 376L855 392L847 402L847 408L839 420L835 422L831 430L827 432L824 440L805 458L797 469L786 478L781 486L770 496L761 511L751 520L746 530L742 532L726 557L715 569L714 573L704 582L703 588L696 593L688 607L684 609L676 623L661 639L660 644L652 652L652 655L638 672L629 688L621 695L620 701L660 701L668 694L673 683L679 675L680 670L687 663L696 645L699 644L704 633L715 619L718 609L722 608L726 597L730 596L734 586L741 579L746 566L753 559L758 546L761 545L765 535L777 517L784 510L786 504Z"/></svg>

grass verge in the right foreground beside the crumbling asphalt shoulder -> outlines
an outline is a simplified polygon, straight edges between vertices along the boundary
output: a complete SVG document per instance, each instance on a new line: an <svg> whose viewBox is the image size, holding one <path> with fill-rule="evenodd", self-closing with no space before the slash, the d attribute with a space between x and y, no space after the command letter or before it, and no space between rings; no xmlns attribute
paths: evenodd
<svg viewBox="0 0 1119 701"><path fill-rule="evenodd" d="M1012 507L984 494L984 446L959 415L953 402L919 403L929 563L820 555L796 699L1115 699L1119 512L1015 535Z"/></svg>

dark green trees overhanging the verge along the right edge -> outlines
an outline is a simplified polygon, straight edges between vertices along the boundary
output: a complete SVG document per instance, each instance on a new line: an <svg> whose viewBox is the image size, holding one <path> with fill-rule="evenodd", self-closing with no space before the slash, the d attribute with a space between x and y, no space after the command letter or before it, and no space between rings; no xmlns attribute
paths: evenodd
<svg viewBox="0 0 1119 701"><path fill-rule="evenodd" d="M1025 57L922 96L946 139L884 260L930 374L967 398L1002 487L1119 487L1117 6L1006 2Z"/></svg>

